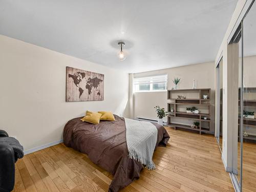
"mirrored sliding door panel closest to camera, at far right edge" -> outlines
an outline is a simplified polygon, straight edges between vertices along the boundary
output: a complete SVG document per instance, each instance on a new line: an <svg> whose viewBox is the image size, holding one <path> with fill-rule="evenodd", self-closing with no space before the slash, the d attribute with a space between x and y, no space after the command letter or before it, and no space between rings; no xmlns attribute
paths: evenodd
<svg viewBox="0 0 256 192"><path fill-rule="evenodd" d="M256 191L256 5L243 19L242 191Z"/></svg>

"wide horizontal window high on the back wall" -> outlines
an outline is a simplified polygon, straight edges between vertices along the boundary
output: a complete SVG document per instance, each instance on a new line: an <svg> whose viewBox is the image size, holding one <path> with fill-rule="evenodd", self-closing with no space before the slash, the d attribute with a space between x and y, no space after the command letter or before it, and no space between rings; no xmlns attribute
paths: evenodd
<svg viewBox="0 0 256 192"><path fill-rule="evenodd" d="M165 91L167 88L167 74L135 77L134 88L135 92Z"/></svg>

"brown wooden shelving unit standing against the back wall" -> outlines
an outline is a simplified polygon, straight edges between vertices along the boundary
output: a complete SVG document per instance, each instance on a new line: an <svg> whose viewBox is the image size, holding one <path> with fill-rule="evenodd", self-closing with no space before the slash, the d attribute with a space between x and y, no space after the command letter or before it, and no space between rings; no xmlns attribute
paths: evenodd
<svg viewBox="0 0 256 192"><path fill-rule="evenodd" d="M178 99L178 95L185 96L186 98ZM207 99L203 98L203 95L208 95ZM167 99L170 101L167 103L167 111L170 115L167 116L167 126L174 127L174 129L186 129L201 133L210 133L211 124L211 103L210 103L210 89L179 89L179 90L167 90ZM187 113L184 108L196 106L200 111L208 113ZM200 110L203 108L203 110ZM174 109L174 112L171 112ZM181 111L181 109L183 111ZM204 119L207 117L207 119ZM191 124L185 124L183 122L173 122L174 120L191 120L200 123L198 129L191 127Z"/></svg>

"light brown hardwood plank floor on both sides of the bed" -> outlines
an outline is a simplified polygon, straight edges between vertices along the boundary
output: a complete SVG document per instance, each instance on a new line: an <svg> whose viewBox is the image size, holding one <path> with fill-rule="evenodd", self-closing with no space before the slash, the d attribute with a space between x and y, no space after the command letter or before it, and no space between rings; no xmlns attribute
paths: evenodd
<svg viewBox="0 0 256 192"><path fill-rule="evenodd" d="M143 169L121 191L234 191L213 136L166 130L171 139L155 151L156 169ZM108 191L111 179L87 155L58 144L18 160L14 191Z"/></svg>

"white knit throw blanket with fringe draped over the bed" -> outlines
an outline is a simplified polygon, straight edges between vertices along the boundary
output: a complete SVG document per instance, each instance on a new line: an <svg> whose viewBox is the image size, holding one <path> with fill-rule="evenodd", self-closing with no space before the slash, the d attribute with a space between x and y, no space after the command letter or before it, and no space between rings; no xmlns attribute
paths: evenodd
<svg viewBox="0 0 256 192"><path fill-rule="evenodd" d="M157 143L157 128L151 122L125 120L126 143L129 157L141 162L148 169L155 169L153 153Z"/></svg>

